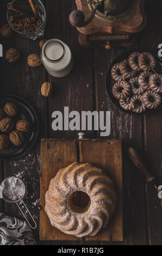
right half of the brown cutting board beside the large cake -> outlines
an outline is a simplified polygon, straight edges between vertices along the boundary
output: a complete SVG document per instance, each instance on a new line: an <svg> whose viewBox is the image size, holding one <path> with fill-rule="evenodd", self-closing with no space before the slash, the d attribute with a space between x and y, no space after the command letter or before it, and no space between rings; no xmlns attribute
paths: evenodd
<svg viewBox="0 0 162 256"><path fill-rule="evenodd" d="M117 192L115 215L110 225L96 236L85 237L85 240L123 241L122 142L116 140L79 142L79 162L90 162L96 167L103 168L113 179Z"/></svg>

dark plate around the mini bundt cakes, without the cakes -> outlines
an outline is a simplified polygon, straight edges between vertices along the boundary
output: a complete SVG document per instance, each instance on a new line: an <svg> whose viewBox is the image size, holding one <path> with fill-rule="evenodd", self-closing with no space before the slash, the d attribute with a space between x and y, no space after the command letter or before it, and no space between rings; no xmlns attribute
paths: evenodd
<svg viewBox="0 0 162 256"><path fill-rule="evenodd" d="M155 111L158 111L160 108L161 108L161 105L162 105L162 99L161 99L161 105L155 109L147 109L145 112L143 113L134 113L132 111L126 111L125 109L123 109L121 106L120 106L120 103L119 101L114 97L113 93L112 93L112 88L114 86L114 83L115 81L113 80L113 78L111 77L111 68L113 67L114 64L118 63L118 62L122 62L123 59L126 59L128 58L129 54L132 53L133 51L131 52L124 52L122 54L120 54L119 56L117 56L113 62L111 63L111 65L109 66L109 69L107 71L107 75L106 75L106 79L105 79L105 87L106 87L106 91L107 91L107 94L108 94L108 97L110 99L110 101L119 109L121 109L121 111L124 111L126 113L129 113L129 114L135 114L135 115L145 115L145 114L149 114L149 113L154 113ZM150 52L153 54L153 56L155 57L156 59L156 66L155 66L155 69L153 70L154 73L158 73L160 75L162 75L162 60L157 56L157 54L151 52L151 51L139 51L139 52ZM139 71L139 74L140 74L140 71ZM137 76L139 75L137 74ZM128 80L127 80L128 81Z"/></svg>

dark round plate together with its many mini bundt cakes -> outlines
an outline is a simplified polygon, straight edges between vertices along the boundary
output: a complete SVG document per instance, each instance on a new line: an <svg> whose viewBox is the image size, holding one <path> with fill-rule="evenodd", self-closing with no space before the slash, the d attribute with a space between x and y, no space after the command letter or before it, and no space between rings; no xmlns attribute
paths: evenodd
<svg viewBox="0 0 162 256"><path fill-rule="evenodd" d="M113 104L127 113L149 114L161 108L162 60L149 51L120 54L111 63L105 87Z"/></svg>

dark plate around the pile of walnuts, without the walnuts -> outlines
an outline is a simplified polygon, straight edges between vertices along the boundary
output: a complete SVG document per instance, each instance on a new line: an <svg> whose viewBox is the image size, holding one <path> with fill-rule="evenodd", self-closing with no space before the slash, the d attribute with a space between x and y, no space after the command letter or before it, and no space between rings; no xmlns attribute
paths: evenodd
<svg viewBox="0 0 162 256"><path fill-rule="evenodd" d="M10 95L10 94L0 94L0 107L4 107L5 103L13 102L18 107L18 114L14 118L15 124L17 120L26 119L31 124L31 129L28 132L24 132L23 135L25 137L24 143L21 146L16 147L12 143L9 144L7 149L0 150L0 159L13 159L16 157L20 157L23 154L29 151L38 136L39 123L38 117L30 104L22 99L21 97ZM0 134L4 134L0 131Z"/></svg>

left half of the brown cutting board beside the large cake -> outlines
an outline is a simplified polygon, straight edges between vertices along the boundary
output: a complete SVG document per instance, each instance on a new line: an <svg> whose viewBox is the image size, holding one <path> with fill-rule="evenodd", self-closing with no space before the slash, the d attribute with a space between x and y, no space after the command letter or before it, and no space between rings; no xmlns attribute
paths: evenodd
<svg viewBox="0 0 162 256"><path fill-rule="evenodd" d="M77 161L76 142L54 141L42 139L41 142L41 178L40 178L40 240L79 240L75 236L65 235L52 227L44 210L45 193L49 181L54 178L58 170Z"/></svg>

